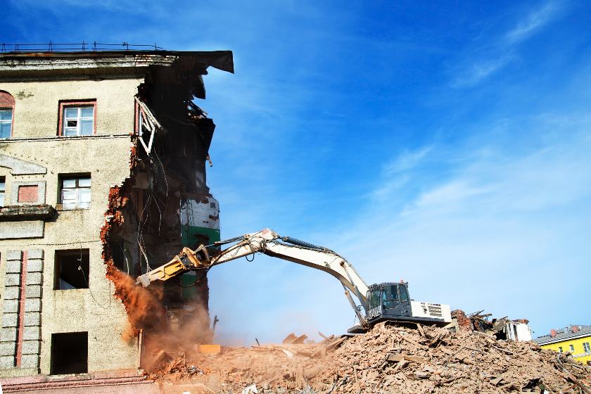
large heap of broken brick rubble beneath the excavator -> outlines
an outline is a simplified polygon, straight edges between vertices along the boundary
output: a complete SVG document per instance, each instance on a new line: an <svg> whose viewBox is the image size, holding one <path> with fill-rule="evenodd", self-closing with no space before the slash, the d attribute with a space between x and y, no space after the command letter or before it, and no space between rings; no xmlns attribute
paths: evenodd
<svg viewBox="0 0 591 394"><path fill-rule="evenodd" d="M155 379L241 393L589 393L591 369L533 342L378 324L352 338L227 348L163 365Z"/></svg>

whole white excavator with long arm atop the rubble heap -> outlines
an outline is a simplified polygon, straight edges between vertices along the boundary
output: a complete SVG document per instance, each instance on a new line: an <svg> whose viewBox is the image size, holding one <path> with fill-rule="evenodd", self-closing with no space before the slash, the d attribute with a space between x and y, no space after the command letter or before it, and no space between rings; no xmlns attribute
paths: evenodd
<svg viewBox="0 0 591 394"><path fill-rule="evenodd" d="M230 243L233 245L221 249L221 246ZM140 275L136 284L147 287L153 281L167 281L185 272L208 270L215 265L238 258L248 258L255 253L319 269L341 281L345 288L345 296L360 322L360 325L349 329L350 333L367 331L379 322L437 326L445 326L452 322L449 305L412 300L409 297L407 282L386 282L367 286L350 262L333 250L288 236L279 236L270 229L217 241L208 246L201 245L195 250L183 248L170 262ZM360 306L355 303L351 293L359 300Z"/></svg>

